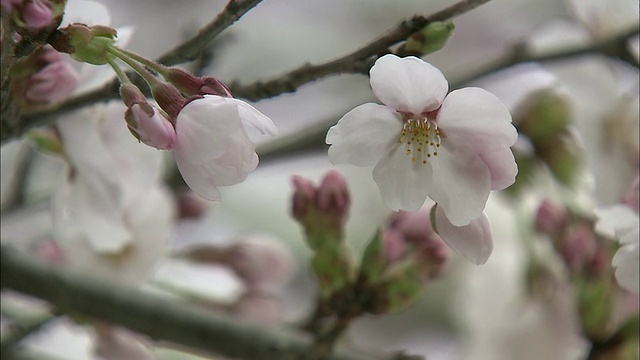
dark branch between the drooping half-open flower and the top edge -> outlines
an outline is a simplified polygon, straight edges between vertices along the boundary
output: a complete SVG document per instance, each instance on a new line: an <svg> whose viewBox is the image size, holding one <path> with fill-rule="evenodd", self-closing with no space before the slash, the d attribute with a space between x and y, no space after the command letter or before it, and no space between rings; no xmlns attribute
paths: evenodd
<svg viewBox="0 0 640 360"><path fill-rule="evenodd" d="M411 19L402 21L382 37L339 59L320 65L305 64L287 74L265 82L256 82L244 86L232 83L230 85L231 92L236 97L256 101L282 93L294 92L298 87L308 82L329 75L342 73L367 74L378 56L390 52L389 47L405 41L427 24L434 21L449 20L489 1L463 0L427 17L414 16Z"/></svg>

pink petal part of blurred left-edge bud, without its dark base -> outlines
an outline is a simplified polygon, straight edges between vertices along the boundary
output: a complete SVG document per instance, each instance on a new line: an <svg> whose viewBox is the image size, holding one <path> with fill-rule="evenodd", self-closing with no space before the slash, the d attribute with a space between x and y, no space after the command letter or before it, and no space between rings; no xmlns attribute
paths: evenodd
<svg viewBox="0 0 640 360"><path fill-rule="evenodd" d="M28 102L49 104L66 99L78 85L80 75L65 61L56 61L27 80L24 96Z"/></svg>

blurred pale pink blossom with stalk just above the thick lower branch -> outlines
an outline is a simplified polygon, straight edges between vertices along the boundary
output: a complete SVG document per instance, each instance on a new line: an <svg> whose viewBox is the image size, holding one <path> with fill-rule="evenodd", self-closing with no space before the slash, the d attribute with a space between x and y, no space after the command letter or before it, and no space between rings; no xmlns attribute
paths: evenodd
<svg viewBox="0 0 640 360"><path fill-rule="evenodd" d="M257 323L281 321L278 292L293 274L294 265L290 252L279 241L255 235L226 246L192 246L179 256L196 263L225 266L242 280L242 295L222 309Z"/></svg>

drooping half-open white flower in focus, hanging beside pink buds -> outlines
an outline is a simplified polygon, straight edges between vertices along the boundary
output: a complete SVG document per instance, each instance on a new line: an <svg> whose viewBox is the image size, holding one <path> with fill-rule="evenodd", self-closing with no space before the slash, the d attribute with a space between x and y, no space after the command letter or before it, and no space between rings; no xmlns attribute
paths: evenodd
<svg viewBox="0 0 640 360"><path fill-rule="evenodd" d="M173 153L191 190L205 199L219 201L218 186L242 182L258 166L246 125L263 134L276 132L271 119L233 98L205 95L180 111Z"/></svg>

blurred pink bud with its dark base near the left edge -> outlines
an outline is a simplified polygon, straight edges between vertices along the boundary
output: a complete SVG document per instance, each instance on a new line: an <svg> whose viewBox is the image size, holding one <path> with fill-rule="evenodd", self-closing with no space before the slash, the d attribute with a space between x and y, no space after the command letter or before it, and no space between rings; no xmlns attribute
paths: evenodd
<svg viewBox="0 0 640 360"><path fill-rule="evenodd" d="M20 106L47 105L66 99L78 72L51 46L42 46L11 67L11 96Z"/></svg>

